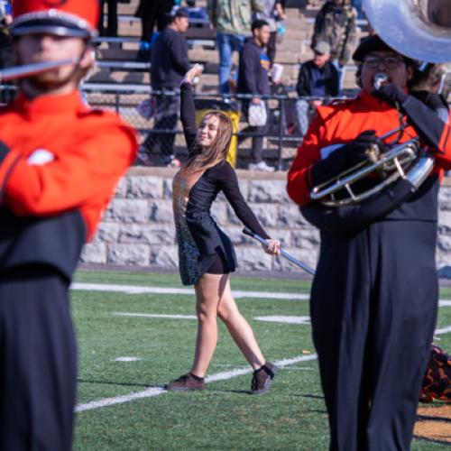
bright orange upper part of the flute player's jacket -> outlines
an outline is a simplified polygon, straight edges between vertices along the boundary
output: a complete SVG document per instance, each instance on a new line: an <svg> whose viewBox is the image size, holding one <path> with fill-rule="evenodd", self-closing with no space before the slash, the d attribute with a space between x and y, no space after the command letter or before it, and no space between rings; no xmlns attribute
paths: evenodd
<svg viewBox="0 0 451 451"><path fill-rule="evenodd" d="M88 239L137 147L130 126L85 106L78 92L20 96L0 110L0 141L10 150L0 165L3 205L17 216L78 209Z"/></svg>

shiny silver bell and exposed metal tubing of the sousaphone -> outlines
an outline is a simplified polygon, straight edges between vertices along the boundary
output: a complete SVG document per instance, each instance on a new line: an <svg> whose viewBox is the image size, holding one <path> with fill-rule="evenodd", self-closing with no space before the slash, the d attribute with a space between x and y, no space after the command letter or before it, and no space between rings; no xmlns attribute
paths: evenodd
<svg viewBox="0 0 451 451"><path fill-rule="evenodd" d="M434 63L451 60L449 0L364 0L363 7L374 30L391 48L415 60ZM375 83L378 88L383 80ZM399 130L386 133L381 139ZM420 149L418 138L395 145L384 153L375 147L368 149L367 161L314 187L310 197L326 207L355 205L398 179L407 179L419 188L434 168L434 158ZM370 174L379 175L380 182L356 193L354 183Z"/></svg>

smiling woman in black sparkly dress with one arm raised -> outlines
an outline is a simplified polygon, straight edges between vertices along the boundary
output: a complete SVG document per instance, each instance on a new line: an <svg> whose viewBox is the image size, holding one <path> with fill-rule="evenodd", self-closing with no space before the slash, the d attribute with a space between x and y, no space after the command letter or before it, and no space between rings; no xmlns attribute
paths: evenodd
<svg viewBox="0 0 451 451"><path fill-rule="evenodd" d="M230 290L230 272L236 266L234 246L210 213L219 192L224 192L245 226L267 239L267 245L263 246L266 253L278 255L280 243L270 239L246 204L235 170L226 161L233 131L229 117L212 111L204 115L199 128L196 126L191 83L199 74L196 65L187 72L180 87L180 116L189 159L172 185L180 277L184 285L194 285L196 290L198 336L189 373L169 382L166 388L173 391L205 388L204 376L215 352L219 317L253 367L253 394L262 394L268 391L278 368L265 361Z"/></svg>

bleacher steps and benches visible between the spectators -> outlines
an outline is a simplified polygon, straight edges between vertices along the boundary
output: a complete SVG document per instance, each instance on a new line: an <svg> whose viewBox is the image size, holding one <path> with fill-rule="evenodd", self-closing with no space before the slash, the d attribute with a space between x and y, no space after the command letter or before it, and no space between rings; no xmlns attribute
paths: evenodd
<svg viewBox="0 0 451 451"><path fill-rule="evenodd" d="M92 105L115 108L141 132L143 139L152 129L152 120L146 121L137 115L135 106L149 96L150 62L139 60L141 20L133 16L137 3L138 0L132 0L130 4L118 4L118 36L97 38L97 68L85 81L84 88L87 91L87 99ZM302 0L291 0L287 3L286 34L277 46L275 62L283 67L281 83L284 87L288 87L284 90L285 95L289 93L291 97L295 95L292 87L296 85L300 63L313 56L309 43L314 18L323 2L319 1L318 5L307 7L305 3ZM198 0L196 6L206 7L207 0ZM217 96L219 58L215 32L205 20L192 20L190 23L186 36L189 43L189 60L204 65L204 74L196 88L198 95ZM235 54L235 64L237 63ZM356 89L354 72L354 65L345 68L344 88L346 90ZM287 100L283 104L281 98L270 102L273 120L280 122L279 128L270 127L269 133L272 138L265 140L264 157L273 161L273 164L277 161L290 161L300 141L300 137L296 136L283 136L282 139L282 135L287 133L287 127L285 125L282 127L281 119L286 121L286 116L290 116L290 110L287 109L288 103ZM240 131L246 125L240 123ZM275 139L276 135L278 139ZM250 138L240 143L238 166L247 166L250 147ZM176 152L185 152L181 133L176 139ZM288 162L281 166L286 167L287 164Z"/></svg>

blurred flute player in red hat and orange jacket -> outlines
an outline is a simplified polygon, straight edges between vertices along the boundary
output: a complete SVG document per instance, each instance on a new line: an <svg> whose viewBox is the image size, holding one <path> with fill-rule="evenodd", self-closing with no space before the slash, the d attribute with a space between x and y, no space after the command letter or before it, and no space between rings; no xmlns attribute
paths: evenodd
<svg viewBox="0 0 451 451"><path fill-rule="evenodd" d="M69 284L136 136L78 85L94 63L96 0L14 0L14 58L62 61L23 74L0 108L0 449L71 448L77 354Z"/></svg>

